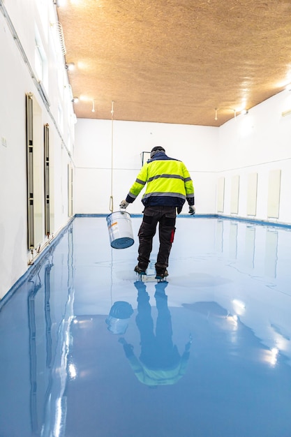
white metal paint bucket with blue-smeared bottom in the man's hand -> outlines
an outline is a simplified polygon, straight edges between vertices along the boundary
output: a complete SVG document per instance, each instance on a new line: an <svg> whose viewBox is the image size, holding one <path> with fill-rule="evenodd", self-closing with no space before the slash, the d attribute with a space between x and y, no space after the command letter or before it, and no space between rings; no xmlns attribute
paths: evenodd
<svg viewBox="0 0 291 437"><path fill-rule="evenodd" d="M130 214L126 211L112 212L106 217L111 247L126 249L134 243Z"/></svg>

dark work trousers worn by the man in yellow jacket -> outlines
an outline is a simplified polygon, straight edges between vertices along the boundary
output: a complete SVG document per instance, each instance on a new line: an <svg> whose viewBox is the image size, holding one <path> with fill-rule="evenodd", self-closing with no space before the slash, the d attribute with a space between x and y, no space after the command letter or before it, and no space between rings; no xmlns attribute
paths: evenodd
<svg viewBox="0 0 291 437"><path fill-rule="evenodd" d="M149 256L153 248L153 238L156 234L158 225L158 237L160 247L156 260L156 268L165 268L168 266L169 255L174 241L174 232L176 224L176 207L145 207L142 224L138 231L140 246L138 248L138 265L142 269L147 269L149 265Z"/></svg>

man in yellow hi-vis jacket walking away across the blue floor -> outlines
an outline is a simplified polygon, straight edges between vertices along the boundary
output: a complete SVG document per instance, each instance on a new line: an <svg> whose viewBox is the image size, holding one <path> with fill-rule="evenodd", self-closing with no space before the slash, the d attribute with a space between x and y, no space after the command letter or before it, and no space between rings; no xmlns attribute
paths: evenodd
<svg viewBox="0 0 291 437"><path fill-rule="evenodd" d="M176 216L187 200L189 213L195 214L194 187L186 165L165 154L165 149L156 146L151 149L151 158L142 166L135 183L119 207L126 209L147 184L142 203L144 205L142 224L138 232L138 264L135 272L147 274L153 238L158 227L159 250L156 259L156 279L168 276L169 255L174 241Z"/></svg>

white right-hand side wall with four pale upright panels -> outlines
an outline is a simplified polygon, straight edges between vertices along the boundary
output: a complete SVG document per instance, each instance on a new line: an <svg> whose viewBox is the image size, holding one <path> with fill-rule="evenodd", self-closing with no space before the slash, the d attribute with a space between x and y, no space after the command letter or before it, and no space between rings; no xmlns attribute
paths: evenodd
<svg viewBox="0 0 291 437"><path fill-rule="evenodd" d="M223 214L262 221L291 223L291 109L290 91L260 103L246 115L239 115L219 128L218 178L225 177ZM270 172L281 170L278 217L268 217ZM258 174L258 201L255 216L248 216L248 176ZM232 177L239 176L238 214L231 213Z"/></svg>

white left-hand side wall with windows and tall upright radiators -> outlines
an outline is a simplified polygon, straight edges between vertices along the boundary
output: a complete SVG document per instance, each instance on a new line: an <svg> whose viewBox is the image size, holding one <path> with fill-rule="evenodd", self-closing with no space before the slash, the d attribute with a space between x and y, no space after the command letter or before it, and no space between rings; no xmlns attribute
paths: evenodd
<svg viewBox="0 0 291 437"><path fill-rule="evenodd" d="M40 107L39 129L43 131L45 124L50 126L52 232L57 232L68 221L67 168L70 163L68 149L73 148L74 139L73 108L68 94L66 70L63 66L62 71L57 73L59 64L52 45L50 21L56 21L55 7L50 0L41 2L46 18L46 27L43 28L36 1L6 0L3 3L8 19L20 37L29 64L24 62L23 55L11 34L9 21L0 9L0 298L27 271L31 258L27 247L25 103L25 96L29 92L33 93L33 98ZM36 75L35 23L47 55L47 96L51 103L50 110L47 110L43 103L29 71L31 66L33 74ZM64 76L63 89L59 87L59 74ZM59 107L64 113L64 123L58 120ZM43 157L43 149L40 150L39 156ZM39 165L44 166L42 158ZM43 181L40 183L43 184ZM46 241L43 226L42 245ZM35 255L36 251L33 250L33 256Z"/></svg>

